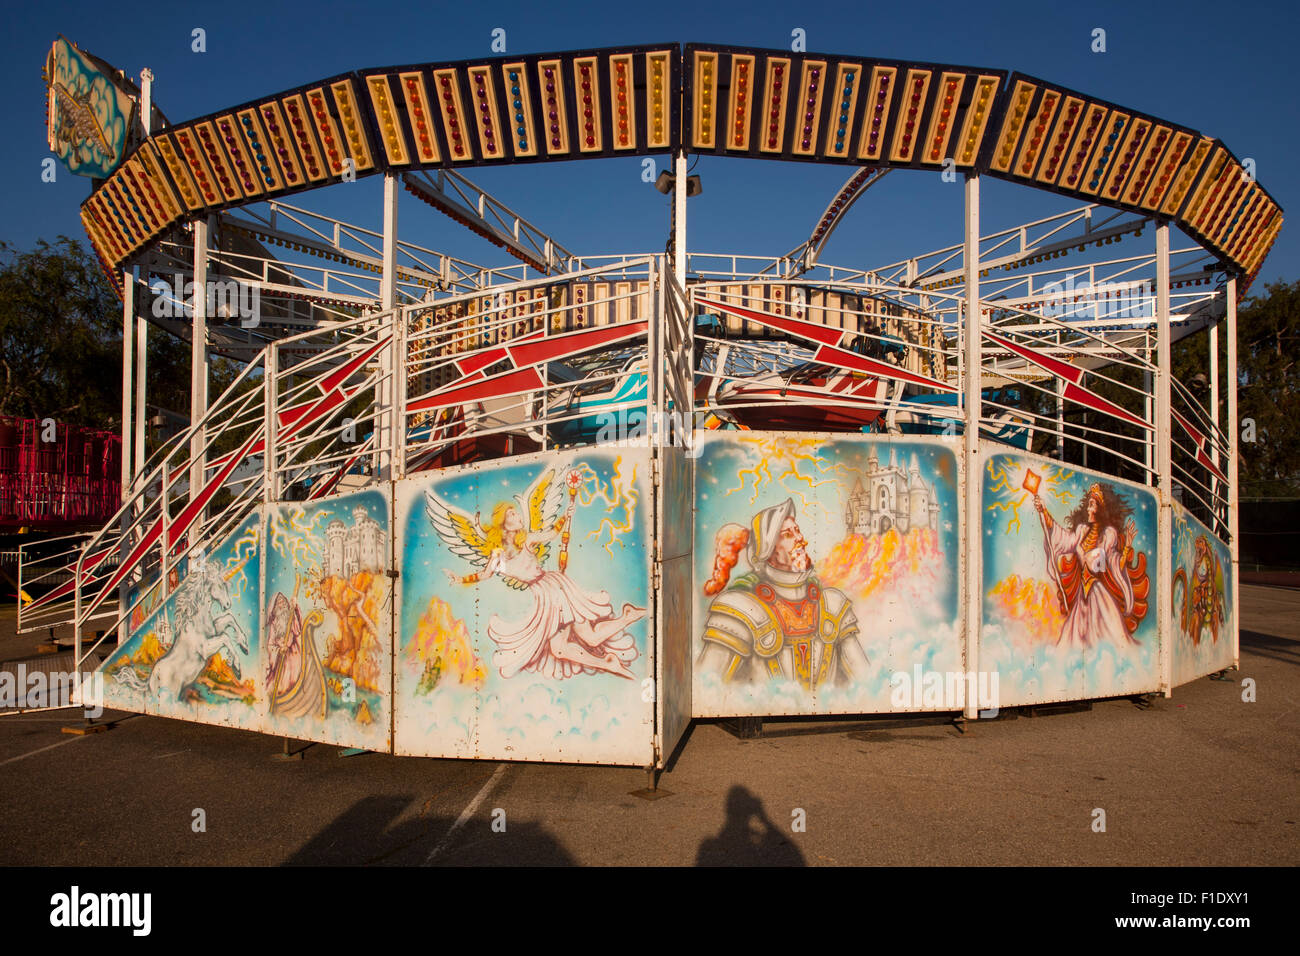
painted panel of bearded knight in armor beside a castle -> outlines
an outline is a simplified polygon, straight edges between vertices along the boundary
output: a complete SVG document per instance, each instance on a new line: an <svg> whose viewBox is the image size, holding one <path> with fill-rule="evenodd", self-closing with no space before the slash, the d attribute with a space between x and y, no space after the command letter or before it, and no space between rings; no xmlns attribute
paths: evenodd
<svg viewBox="0 0 1300 956"><path fill-rule="evenodd" d="M696 471L697 717L961 706L942 438L712 433ZM957 691L961 693L961 691Z"/></svg>

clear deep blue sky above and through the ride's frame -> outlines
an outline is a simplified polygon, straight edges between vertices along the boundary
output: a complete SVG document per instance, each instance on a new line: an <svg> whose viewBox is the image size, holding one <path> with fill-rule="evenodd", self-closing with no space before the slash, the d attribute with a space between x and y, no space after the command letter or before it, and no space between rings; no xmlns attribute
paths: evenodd
<svg viewBox="0 0 1300 956"><path fill-rule="evenodd" d="M207 52L191 52L191 30ZM1106 30L1105 53L1091 51ZM138 77L153 70L157 104L187 120L364 66L630 43L714 42L1023 70L1225 140L1253 157L1288 222L1256 291L1300 278L1300 155L1296 81L1300 12L1294 3L43 3L5 9L0 70L9 90L0 153L0 239L20 247L60 233L82 238L88 181L60 166L40 181L43 57L62 33ZM690 248L781 254L802 242L848 177L844 168L703 157L703 195L690 200ZM471 178L580 254L660 251L666 199L641 181L638 159L471 170ZM380 225L380 181L290 199L359 225ZM1078 203L985 179L984 232ZM961 189L937 173L896 172L859 202L823 259L872 267L959 241ZM482 264L512 261L403 194L404 239ZM1150 237L1147 233L1147 237ZM1150 239L1145 239L1149 242Z"/></svg>

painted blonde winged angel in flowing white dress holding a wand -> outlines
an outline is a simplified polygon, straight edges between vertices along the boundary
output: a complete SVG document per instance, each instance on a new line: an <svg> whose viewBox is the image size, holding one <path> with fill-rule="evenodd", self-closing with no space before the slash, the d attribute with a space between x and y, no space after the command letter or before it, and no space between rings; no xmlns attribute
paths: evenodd
<svg viewBox="0 0 1300 956"><path fill-rule="evenodd" d="M488 623L488 636L497 645L493 659L503 678L520 671L550 678L598 671L633 678L628 665L637 658L637 648L628 627L645 617L645 609L624 604L615 617L606 592L589 593L566 574L567 532L581 483L577 471L563 484L554 470L543 471L525 494L499 502L486 527L477 512L471 516L433 489L425 492L425 511L438 537L476 568L464 576L447 571L452 584L477 584L495 575L533 597L526 619L511 624L493 614ZM562 515L566 484L568 507ZM542 564L556 537L562 538L560 570L547 571Z"/></svg>

